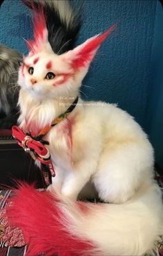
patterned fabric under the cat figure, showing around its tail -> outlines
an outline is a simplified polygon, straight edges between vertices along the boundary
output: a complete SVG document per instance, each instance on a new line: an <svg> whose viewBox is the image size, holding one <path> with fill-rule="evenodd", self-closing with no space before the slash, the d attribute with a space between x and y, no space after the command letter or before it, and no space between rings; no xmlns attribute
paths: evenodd
<svg viewBox="0 0 163 256"><path fill-rule="evenodd" d="M156 173L156 180L162 189L163 195L163 176ZM11 190L0 190L0 256L25 256L26 246L21 230L7 227L4 207L9 204L7 199L10 196L12 196ZM163 237L156 241L152 254L146 256L163 256Z"/></svg>

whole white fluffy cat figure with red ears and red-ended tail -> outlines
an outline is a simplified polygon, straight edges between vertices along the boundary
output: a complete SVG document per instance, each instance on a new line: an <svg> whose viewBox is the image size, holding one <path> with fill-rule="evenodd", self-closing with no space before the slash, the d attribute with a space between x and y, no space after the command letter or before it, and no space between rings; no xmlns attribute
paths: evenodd
<svg viewBox="0 0 163 256"><path fill-rule="evenodd" d="M19 123L25 133L37 137L77 99L90 62L114 28L57 55L44 17L35 19L35 40L28 42L30 53L19 70ZM28 255L144 255L151 250L162 233L161 193L153 180L153 148L133 117L115 105L79 98L43 139L56 171L52 185L43 194L21 186L8 211L9 221L23 230ZM81 190L81 196L93 196L91 184L110 204L76 201ZM66 246L70 243L65 250L64 232Z"/></svg>

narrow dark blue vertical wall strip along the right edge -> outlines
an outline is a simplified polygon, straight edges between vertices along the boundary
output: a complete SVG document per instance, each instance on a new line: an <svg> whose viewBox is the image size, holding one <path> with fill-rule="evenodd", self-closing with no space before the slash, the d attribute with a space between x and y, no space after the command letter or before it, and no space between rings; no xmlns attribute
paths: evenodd
<svg viewBox="0 0 163 256"><path fill-rule="evenodd" d="M160 2L157 2L151 64L148 133L155 148L156 160L163 169L163 8Z"/></svg>

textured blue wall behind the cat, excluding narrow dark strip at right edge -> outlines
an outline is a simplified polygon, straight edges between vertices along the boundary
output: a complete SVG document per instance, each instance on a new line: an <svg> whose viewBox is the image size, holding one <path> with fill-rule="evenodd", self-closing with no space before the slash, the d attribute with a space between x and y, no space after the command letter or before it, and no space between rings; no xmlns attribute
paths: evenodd
<svg viewBox="0 0 163 256"><path fill-rule="evenodd" d="M84 42L111 24L117 31L99 49L83 87L85 98L118 103L145 127L151 46L156 1L84 1L84 22L79 41ZM1 6L1 43L26 53L22 37L32 37L30 12L19 0ZM87 98L86 98L87 99Z"/></svg>

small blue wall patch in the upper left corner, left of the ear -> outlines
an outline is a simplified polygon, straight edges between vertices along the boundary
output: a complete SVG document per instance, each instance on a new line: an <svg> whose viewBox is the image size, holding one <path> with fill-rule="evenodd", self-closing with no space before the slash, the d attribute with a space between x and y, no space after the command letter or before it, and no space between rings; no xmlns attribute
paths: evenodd
<svg viewBox="0 0 163 256"><path fill-rule="evenodd" d="M32 37L30 10L20 0L5 0L0 9L0 43L28 53L27 39Z"/></svg>

